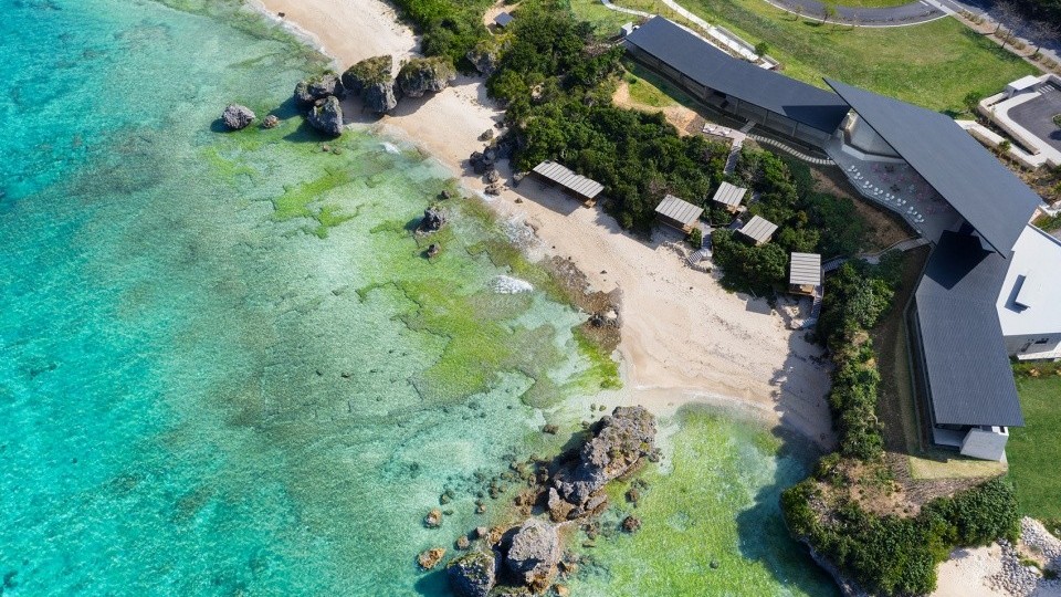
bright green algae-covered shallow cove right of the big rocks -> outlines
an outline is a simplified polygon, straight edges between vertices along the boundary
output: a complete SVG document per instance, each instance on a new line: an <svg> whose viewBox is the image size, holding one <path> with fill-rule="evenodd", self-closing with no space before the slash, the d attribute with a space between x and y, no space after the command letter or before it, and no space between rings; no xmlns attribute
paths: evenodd
<svg viewBox="0 0 1061 597"><path fill-rule="evenodd" d="M616 505L606 524L633 514L641 530L587 549L593 564L572 593L836 595L831 579L808 566L780 513L780 491L803 476L802 464L753 425L698 409L679 419L670 470L644 473L638 504L626 502L627 485L609 490Z"/></svg>

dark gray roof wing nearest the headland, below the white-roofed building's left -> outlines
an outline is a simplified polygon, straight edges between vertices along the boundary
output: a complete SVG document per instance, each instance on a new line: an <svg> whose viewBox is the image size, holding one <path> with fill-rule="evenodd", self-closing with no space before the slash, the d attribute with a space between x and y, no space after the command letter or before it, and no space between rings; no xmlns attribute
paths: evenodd
<svg viewBox="0 0 1061 597"><path fill-rule="evenodd" d="M917 285L917 320L937 423L1021 427L995 301L1008 263L973 234L946 231Z"/></svg>

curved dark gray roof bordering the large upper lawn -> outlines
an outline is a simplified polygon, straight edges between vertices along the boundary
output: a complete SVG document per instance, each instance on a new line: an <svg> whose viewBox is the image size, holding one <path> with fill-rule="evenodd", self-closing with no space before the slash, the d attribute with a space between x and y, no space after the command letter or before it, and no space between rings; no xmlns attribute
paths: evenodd
<svg viewBox="0 0 1061 597"><path fill-rule="evenodd" d="M663 17L639 27L627 41L701 85L826 133L836 130L850 109L834 93L735 59Z"/></svg>

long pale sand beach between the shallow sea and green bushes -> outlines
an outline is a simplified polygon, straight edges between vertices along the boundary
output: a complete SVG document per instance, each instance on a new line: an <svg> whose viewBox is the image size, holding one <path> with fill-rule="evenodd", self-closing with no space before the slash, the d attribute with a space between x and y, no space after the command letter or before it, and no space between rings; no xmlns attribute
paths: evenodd
<svg viewBox="0 0 1061 597"><path fill-rule="evenodd" d="M382 53L408 56L417 46L412 32L397 24L393 9L379 0L260 1L267 12L284 12L288 24L311 32L338 69ZM464 174L468 156L482 148L479 135L502 115L486 98L483 80L472 77L433 97L403 98L393 115L382 118L348 109L355 123L385 125L390 133L395 127L458 175ZM474 176L462 180L475 190L484 187ZM599 209L533 180L492 205L530 223L546 252L572 258L595 287L621 289L620 353L628 389L613 401L656 411L689 401L732 402L832 444L828 370L810 362L820 349L803 342L802 332L787 331L764 301L725 292L711 274L686 266L663 237L632 238Z"/></svg>

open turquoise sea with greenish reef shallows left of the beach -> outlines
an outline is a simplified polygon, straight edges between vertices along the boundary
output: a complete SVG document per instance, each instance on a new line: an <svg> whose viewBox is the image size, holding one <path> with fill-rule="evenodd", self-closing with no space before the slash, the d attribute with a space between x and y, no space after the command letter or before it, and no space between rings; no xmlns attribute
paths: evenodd
<svg viewBox="0 0 1061 597"><path fill-rule="evenodd" d="M582 316L496 292L504 234L474 208L424 260L408 228L445 170L364 133L322 151L284 104L321 57L175 4L0 0L0 595L443 595L416 554L498 514L475 493L560 448L547 419L588 416ZM232 101L284 123L220 133ZM802 474L729 441L787 471L735 517ZM828 591L729 548L768 590Z"/></svg>

